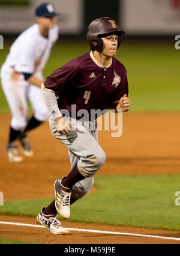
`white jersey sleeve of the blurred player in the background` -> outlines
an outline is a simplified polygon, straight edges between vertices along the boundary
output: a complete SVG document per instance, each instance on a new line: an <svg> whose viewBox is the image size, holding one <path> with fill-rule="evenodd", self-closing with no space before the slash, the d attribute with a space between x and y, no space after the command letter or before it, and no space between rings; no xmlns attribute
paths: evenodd
<svg viewBox="0 0 180 256"><path fill-rule="evenodd" d="M20 73L34 73L35 46L34 43L25 42L14 70Z"/></svg>

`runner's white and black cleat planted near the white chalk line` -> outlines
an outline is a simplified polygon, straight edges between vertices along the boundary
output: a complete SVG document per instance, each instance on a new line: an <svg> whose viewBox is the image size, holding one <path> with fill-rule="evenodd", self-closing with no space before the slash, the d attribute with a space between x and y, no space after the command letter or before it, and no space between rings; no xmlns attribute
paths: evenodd
<svg viewBox="0 0 180 256"><path fill-rule="evenodd" d="M44 207L43 207L44 209ZM56 215L44 215L43 209L37 216L37 221L41 225L48 228L53 234L69 234L70 231L67 228L62 228L61 222L56 219Z"/></svg>

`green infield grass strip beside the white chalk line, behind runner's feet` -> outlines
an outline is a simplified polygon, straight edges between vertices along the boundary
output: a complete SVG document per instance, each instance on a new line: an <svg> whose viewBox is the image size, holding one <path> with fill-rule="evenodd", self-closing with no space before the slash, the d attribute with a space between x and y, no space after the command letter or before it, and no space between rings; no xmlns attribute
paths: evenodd
<svg viewBox="0 0 180 256"><path fill-rule="evenodd" d="M74 203L68 220L180 231L179 183L180 175L97 176L97 192ZM0 214L35 217L52 200L7 201Z"/></svg>

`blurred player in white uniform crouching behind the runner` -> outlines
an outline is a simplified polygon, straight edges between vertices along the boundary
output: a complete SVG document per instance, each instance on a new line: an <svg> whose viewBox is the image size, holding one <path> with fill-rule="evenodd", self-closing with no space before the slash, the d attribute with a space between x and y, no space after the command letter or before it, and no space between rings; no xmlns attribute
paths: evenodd
<svg viewBox="0 0 180 256"><path fill-rule="evenodd" d="M49 111L41 96L42 70L46 65L53 44L58 39L58 26L52 4L41 4L35 10L36 23L14 41L1 67L1 84L11 109L10 133L7 154L10 162L22 161L17 147L20 141L25 156L33 151L27 133L49 119ZM34 109L28 119L26 98Z"/></svg>

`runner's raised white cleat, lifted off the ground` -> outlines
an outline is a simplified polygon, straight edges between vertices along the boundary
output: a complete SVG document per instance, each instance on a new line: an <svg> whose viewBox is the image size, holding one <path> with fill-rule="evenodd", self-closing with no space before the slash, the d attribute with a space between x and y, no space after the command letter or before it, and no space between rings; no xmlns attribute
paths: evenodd
<svg viewBox="0 0 180 256"><path fill-rule="evenodd" d="M62 186L62 178L55 181L55 207L59 215L63 218L70 217L71 189Z"/></svg>

